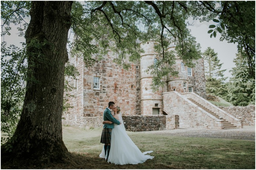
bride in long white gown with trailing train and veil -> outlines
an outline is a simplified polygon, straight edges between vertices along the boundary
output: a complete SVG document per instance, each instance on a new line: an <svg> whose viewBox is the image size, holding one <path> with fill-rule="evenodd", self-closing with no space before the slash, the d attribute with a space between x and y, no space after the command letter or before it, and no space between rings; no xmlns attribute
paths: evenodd
<svg viewBox="0 0 256 170"><path fill-rule="evenodd" d="M121 122L120 125L114 124L111 134L111 147L109 151L108 162L115 163L118 165L123 164L138 164L143 163L148 159L153 159L153 156L146 155L153 151L141 152L136 144L133 143L131 138L127 135L122 115L120 114L120 107L116 106L114 111L114 116L117 120ZM111 121L103 121L103 124L111 124ZM102 149L100 158L105 158L104 147ZM105 158L106 159L106 158Z"/></svg>

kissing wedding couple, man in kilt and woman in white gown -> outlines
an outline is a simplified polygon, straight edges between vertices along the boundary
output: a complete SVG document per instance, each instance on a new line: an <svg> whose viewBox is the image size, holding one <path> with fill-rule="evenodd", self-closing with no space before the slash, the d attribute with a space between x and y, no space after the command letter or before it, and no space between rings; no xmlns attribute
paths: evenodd
<svg viewBox="0 0 256 170"><path fill-rule="evenodd" d="M114 116L110 110L114 111ZM127 135L120 111L120 107L115 106L114 102L109 102L108 108L104 110L104 126L100 139L104 146L99 157L116 165L138 164L153 159L153 156L146 155L153 151L142 153Z"/></svg>

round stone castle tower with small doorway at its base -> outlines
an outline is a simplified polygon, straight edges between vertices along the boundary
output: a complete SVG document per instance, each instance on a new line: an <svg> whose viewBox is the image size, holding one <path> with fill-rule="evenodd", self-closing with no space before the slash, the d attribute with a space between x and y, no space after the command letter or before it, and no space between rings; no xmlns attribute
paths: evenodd
<svg viewBox="0 0 256 170"><path fill-rule="evenodd" d="M148 41L140 43L144 53L140 54L140 91L141 91L141 114L158 115L162 114L162 90L153 93L151 83L153 76L145 73L148 66L154 64L158 59L158 54L154 51L154 45L157 42Z"/></svg>

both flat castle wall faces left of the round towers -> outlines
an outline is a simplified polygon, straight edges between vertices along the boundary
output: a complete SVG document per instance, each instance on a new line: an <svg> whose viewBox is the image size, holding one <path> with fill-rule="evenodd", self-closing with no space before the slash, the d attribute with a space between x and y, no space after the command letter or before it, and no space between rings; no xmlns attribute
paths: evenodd
<svg viewBox="0 0 256 170"><path fill-rule="evenodd" d="M71 83L77 87L70 92L75 96L69 99L73 108L63 115L64 118L68 117L70 125L83 120L80 118L81 116L102 116L109 101L114 101L116 106L121 107L122 113L125 115L140 114L139 63L131 63L131 68L124 70L113 59L115 59L115 55L109 51L103 59L96 61L95 65L89 68L86 68L81 58L69 59L80 74L77 80L71 80ZM124 62L129 63L128 59L124 59ZM94 89L93 86L95 76L99 77L99 89ZM65 121L65 123L69 124L69 121Z"/></svg>

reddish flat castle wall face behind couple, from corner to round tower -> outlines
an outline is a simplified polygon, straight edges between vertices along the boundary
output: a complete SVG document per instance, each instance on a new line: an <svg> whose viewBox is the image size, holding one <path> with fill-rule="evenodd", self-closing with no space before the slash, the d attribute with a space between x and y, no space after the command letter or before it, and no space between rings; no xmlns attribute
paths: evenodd
<svg viewBox="0 0 256 170"><path fill-rule="evenodd" d="M123 114L140 113L139 64L131 64L131 68L124 70L114 63L113 59L114 54L109 52L93 67L84 70L85 116L102 115L109 101L114 101ZM100 80L98 90L93 88L94 76Z"/></svg>

